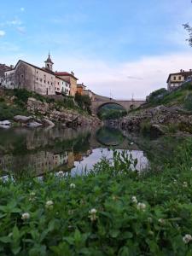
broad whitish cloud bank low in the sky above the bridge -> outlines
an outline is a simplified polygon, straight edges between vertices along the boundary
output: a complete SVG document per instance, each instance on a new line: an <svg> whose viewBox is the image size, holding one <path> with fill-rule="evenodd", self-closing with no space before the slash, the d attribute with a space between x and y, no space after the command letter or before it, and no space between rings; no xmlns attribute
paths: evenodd
<svg viewBox="0 0 192 256"><path fill-rule="evenodd" d="M103 96L129 99L145 98L151 91L166 87L169 73L192 68L192 50L170 55L145 56L138 61L127 61L112 65L105 61L86 59L61 59L54 57L55 68L73 70L90 90Z"/></svg>

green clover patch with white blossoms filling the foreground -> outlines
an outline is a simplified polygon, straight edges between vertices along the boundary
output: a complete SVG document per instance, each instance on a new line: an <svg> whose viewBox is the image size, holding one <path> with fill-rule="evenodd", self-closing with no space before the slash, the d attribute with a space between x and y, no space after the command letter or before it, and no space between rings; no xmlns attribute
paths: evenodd
<svg viewBox="0 0 192 256"><path fill-rule="evenodd" d="M163 172L131 172L114 153L87 176L2 181L0 254L191 255L191 154L190 139Z"/></svg>

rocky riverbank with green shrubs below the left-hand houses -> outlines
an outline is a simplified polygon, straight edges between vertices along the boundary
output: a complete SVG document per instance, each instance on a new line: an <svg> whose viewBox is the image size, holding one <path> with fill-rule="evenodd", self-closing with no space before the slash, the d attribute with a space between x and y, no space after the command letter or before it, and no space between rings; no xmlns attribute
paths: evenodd
<svg viewBox="0 0 192 256"><path fill-rule="evenodd" d="M27 90L0 90L0 120L12 125L27 127L101 125L100 119L92 116L85 103L75 102L70 96L40 96ZM8 122L6 122L8 125ZM4 125L4 126L6 126Z"/></svg>

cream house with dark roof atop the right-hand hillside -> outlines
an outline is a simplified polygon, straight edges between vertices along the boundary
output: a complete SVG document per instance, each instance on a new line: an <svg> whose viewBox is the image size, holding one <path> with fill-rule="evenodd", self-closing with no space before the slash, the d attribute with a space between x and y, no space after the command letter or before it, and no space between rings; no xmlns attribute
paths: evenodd
<svg viewBox="0 0 192 256"><path fill-rule="evenodd" d="M167 90L173 90L192 77L192 69L189 71L180 70L178 73L170 73L166 81Z"/></svg>

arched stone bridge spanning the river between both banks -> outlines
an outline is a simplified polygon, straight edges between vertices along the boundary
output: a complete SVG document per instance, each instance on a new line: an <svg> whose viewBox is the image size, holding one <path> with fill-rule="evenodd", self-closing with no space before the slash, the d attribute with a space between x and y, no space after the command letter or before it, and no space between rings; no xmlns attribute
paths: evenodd
<svg viewBox="0 0 192 256"><path fill-rule="evenodd" d="M131 108L138 108L141 106L145 101L144 100L96 100L91 102L91 110L92 113L97 113L99 108L101 108L103 105L107 105L109 103L117 104L121 106L122 108L125 108L125 110L128 112Z"/></svg>

